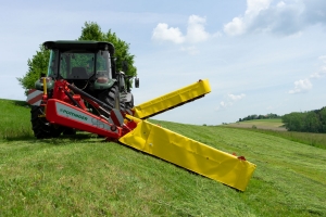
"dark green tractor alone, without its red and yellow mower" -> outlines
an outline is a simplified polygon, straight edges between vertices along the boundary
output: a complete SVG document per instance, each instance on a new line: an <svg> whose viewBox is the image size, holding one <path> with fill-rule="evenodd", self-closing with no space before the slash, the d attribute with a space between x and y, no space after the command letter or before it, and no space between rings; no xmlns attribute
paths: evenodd
<svg viewBox="0 0 326 217"><path fill-rule="evenodd" d="M50 60L46 76L48 98L53 93L54 80L64 79L82 89L89 95L102 101L105 110L130 110L134 107L134 97L130 92L134 76L117 72L114 58L114 46L102 41L46 41ZM126 62L123 69L127 71ZM35 82L37 90L43 90L43 78ZM135 78L135 87L139 87L139 79ZM89 111L98 115L100 111ZM51 125L45 117L43 106L32 106L32 126L36 138L59 137L62 132L75 133L75 129Z"/></svg>

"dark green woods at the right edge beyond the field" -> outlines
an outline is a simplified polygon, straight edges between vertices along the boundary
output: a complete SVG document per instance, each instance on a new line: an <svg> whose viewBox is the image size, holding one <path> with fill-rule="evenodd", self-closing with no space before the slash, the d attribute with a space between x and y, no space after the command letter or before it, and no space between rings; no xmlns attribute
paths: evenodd
<svg viewBox="0 0 326 217"><path fill-rule="evenodd" d="M310 112L292 112L281 117L289 131L326 132L326 107Z"/></svg>

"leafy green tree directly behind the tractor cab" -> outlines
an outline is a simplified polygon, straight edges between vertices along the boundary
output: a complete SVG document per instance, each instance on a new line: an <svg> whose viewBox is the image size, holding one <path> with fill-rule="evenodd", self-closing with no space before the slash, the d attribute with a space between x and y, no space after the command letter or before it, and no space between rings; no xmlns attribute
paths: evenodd
<svg viewBox="0 0 326 217"><path fill-rule="evenodd" d="M111 29L108 33L102 33L101 27L97 23L85 22L85 26L82 27L82 36L77 40L108 41L113 43L115 47L116 69L123 71L123 62L126 62L128 71L125 73L129 76L137 75L137 68L134 66L135 55L129 53L129 43L121 40ZM50 51L40 44L39 51L36 51L32 60L28 59L28 72L22 78L17 78L20 85L25 89L25 94L27 94L29 89L35 88L35 81L40 78L42 73L47 74L49 58Z"/></svg>

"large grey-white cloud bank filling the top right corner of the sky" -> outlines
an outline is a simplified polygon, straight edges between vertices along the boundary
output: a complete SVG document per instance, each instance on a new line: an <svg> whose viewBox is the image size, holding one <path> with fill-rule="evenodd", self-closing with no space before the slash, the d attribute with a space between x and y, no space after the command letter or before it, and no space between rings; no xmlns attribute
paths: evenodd
<svg viewBox="0 0 326 217"><path fill-rule="evenodd" d="M325 0L247 0L247 10L224 25L227 35L274 33L296 35L306 26L326 24Z"/></svg>

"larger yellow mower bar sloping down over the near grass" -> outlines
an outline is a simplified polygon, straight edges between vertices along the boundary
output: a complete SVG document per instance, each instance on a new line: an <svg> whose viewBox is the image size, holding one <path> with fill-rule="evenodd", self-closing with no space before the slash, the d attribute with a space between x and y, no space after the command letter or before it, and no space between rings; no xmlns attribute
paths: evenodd
<svg viewBox="0 0 326 217"><path fill-rule="evenodd" d="M118 141L233 188L244 191L255 165L146 120Z"/></svg>

